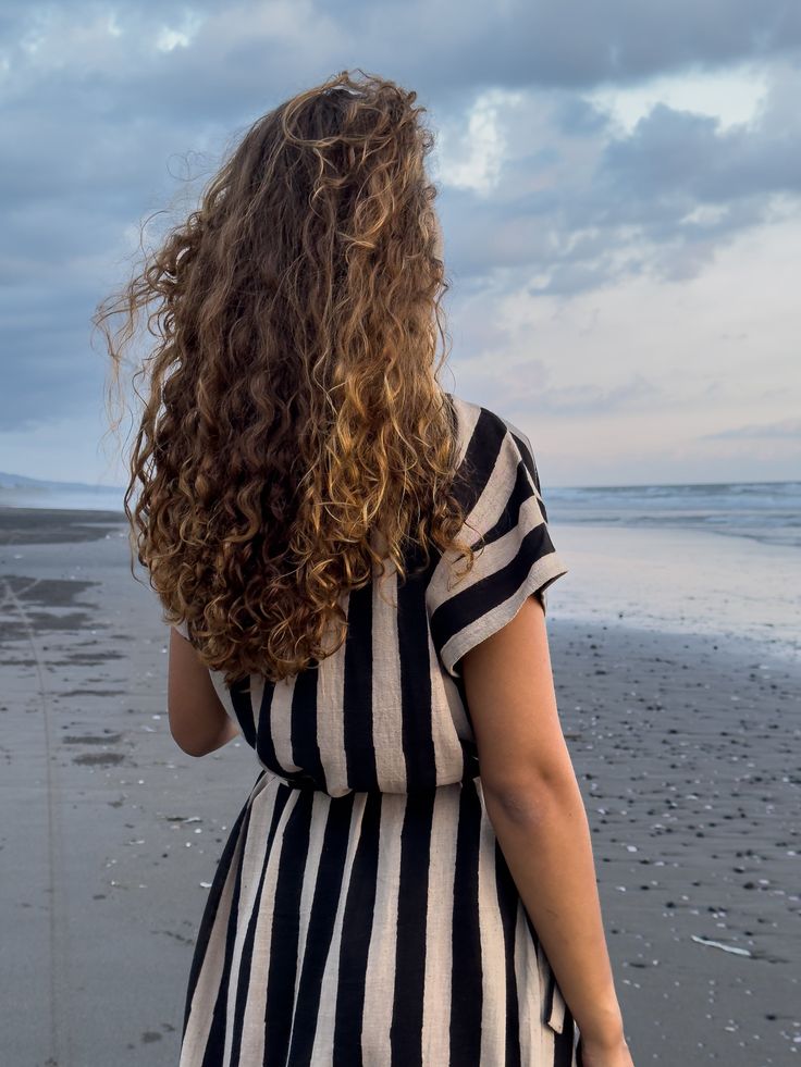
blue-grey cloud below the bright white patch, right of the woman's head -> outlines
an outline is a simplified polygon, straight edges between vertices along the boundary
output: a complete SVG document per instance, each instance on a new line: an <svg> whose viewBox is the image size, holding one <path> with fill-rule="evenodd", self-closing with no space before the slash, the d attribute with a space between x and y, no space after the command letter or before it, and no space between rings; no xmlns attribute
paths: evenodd
<svg viewBox="0 0 801 1067"><path fill-rule="evenodd" d="M461 214L453 225L458 263L480 271L481 255L492 250L496 263L541 275L531 293L559 297L642 272L694 276L740 233L798 204L801 117L784 107L793 89L776 77L748 126L724 128L658 104L629 134L595 115L583 127L589 133L574 132L558 120L569 104L554 96L545 104L550 125L538 131L547 137L547 158L535 151L507 168L480 221L451 199ZM546 185L517 191L527 175L530 185L549 169ZM468 235L478 236L471 248Z"/></svg>

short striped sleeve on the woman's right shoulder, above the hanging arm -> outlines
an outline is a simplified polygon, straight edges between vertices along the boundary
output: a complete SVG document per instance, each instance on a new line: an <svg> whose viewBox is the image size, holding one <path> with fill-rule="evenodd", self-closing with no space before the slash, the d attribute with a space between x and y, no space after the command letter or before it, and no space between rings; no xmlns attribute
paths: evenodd
<svg viewBox="0 0 801 1067"><path fill-rule="evenodd" d="M444 553L426 591L434 647L454 678L465 653L506 625L528 596L547 611L546 587L568 571L551 541L529 438L481 408L465 461L473 473L459 536L476 548L473 566L460 575L466 558Z"/></svg>

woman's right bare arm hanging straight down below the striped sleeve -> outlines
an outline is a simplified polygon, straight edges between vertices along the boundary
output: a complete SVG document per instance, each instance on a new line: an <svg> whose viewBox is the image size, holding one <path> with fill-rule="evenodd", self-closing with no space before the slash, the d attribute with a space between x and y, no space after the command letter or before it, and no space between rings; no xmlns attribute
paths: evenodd
<svg viewBox="0 0 801 1067"><path fill-rule="evenodd" d="M581 1031L586 1063L625 1067L631 1060L590 831L558 720L539 598L528 597L510 622L460 663L488 816Z"/></svg>

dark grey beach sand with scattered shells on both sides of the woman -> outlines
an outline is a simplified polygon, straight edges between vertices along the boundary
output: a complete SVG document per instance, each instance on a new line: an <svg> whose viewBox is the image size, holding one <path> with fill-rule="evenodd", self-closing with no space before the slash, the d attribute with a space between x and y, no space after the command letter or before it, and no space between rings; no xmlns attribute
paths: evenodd
<svg viewBox="0 0 801 1067"><path fill-rule="evenodd" d="M174 1067L258 765L173 743L168 631L123 517L0 509L0 1063ZM634 1063L794 1063L801 669L550 605Z"/></svg>

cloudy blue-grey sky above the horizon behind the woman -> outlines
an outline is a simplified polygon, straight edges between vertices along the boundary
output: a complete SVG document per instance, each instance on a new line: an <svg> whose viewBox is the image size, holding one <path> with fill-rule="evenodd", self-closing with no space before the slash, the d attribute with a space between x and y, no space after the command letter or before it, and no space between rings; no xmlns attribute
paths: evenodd
<svg viewBox="0 0 801 1067"><path fill-rule="evenodd" d="M799 477L796 0L4 0L0 470L122 481L95 305L147 215L345 67L429 109L443 383L543 482Z"/></svg>

